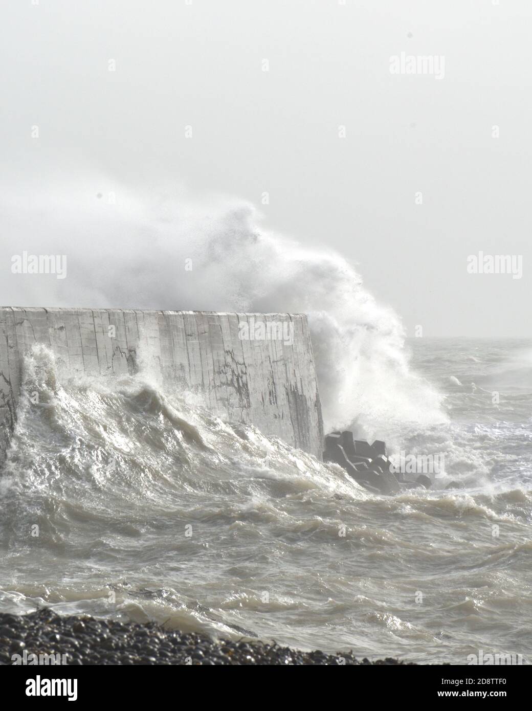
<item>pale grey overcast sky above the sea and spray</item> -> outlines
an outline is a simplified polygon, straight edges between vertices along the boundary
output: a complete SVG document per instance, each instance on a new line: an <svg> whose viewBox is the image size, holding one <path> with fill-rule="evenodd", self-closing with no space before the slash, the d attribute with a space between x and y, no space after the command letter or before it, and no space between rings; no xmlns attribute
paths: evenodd
<svg viewBox="0 0 532 711"><path fill-rule="evenodd" d="M531 37L530 0L4 0L1 186L20 210L92 174L91 200L243 198L356 263L409 336L532 336ZM390 73L402 52L440 77ZM11 278L11 223L0 303L56 305ZM468 274L479 251L522 255L521 279Z"/></svg>

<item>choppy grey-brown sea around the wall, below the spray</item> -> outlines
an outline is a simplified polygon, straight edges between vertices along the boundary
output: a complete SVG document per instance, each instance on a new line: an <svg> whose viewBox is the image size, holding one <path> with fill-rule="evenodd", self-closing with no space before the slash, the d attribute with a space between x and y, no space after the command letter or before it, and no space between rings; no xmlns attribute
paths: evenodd
<svg viewBox="0 0 532 711"><path fill-rule="evenodd" d="M0 609L410 661L530 661L532 342L410 348L443 417L383 419L371 434L444 452L447 476L394 498L142 373L69 380L37 349L25 390L39 404L21 402L0 476ZM451 479L466 488L445 491Z"/></svg>

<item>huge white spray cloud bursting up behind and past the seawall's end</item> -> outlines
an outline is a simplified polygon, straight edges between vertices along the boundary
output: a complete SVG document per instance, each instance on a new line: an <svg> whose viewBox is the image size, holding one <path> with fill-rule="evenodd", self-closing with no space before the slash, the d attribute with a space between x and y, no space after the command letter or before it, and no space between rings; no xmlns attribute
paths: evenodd
<svg viewBox="0 0 532 711"><path fill-rule="evenodd" d="M26 210L3 193L12 244L68 246L70 277L24 291L3 280L5 304L305 313L326 429L356 420L390 438L403 422L442 420L439 395L409 368L400 319L343 257L260 228L244 201L112 186L108 204L93 187L103 182L50 185Z"/></svg>

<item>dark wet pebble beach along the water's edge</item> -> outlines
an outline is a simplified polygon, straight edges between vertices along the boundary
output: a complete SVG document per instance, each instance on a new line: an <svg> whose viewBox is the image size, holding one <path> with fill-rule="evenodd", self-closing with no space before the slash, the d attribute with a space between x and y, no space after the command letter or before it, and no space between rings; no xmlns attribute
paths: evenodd
<svg viewBox="0 0 532 711"><path fill-rule="evenodd" d="M214 640L89 615L60 616L49 608L0 613L0 665L415 665L395 658L370 661L351 652L304 652L272 642Z"/></svg>

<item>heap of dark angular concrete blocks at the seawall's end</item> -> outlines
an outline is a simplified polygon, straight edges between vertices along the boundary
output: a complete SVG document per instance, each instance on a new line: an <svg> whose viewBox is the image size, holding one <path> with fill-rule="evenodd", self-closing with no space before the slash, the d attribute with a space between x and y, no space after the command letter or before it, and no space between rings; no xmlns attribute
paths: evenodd
<svg viewBox="0 0 532 711"><path fill-rule="evenodd" d="M369 491L387 494L400 493L410 488L429 488L428 476L420 474L415 481L405 481L402 472L395 471L388 459L385 442L376 439L369 444L364 439L354 439L353 432L331 432L325 437L324 461L342 466L350 476Z"/></svg>

